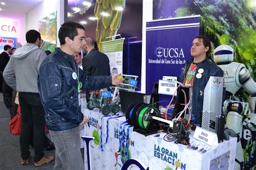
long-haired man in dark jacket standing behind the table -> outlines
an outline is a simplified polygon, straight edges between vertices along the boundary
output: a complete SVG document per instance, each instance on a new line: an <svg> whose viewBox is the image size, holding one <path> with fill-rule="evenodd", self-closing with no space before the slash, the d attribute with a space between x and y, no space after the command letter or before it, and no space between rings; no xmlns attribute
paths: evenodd
<svg viewBox="0 0 256 170"><path fill-rule="evenodd" d="M210 76L223 77L224 73L215 63L207 59L211 53L211 41L205 36L194 38L191 47L192 60L186 61L181 69L179 82L192 87L192 114L194 124L201 125L203 114L204 89ZM225 88L223 90L223 99ZM223 100L224 101L224 100Z"/></svg>

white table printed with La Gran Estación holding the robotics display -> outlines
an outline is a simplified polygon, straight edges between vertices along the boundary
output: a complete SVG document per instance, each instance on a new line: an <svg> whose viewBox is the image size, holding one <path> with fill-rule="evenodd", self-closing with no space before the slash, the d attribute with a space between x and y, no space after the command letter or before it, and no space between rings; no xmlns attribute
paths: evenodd
<svg viewBox="0 0 256 170"><path fill-rule="evenodd" d="M87 124L84 126L84 136L95 137L90 144L91 169L121 169L125 158L139 159L149 169L233 169L234 167L237 138L230 137L230 140L225 140L218 147L209 146L205 153L201 153L198 150L188 149L185 145L165 141L164 132L157 133L160 136L152 134L147 137L133 132L133 127L125 123L125 116L104 116L98 109L87 110L84 106L82 112L89 118L90 123L90 128ZM194 140L192 135L190 139ZM86 152L85 147L85 155ZM84 160L87 169L87 159ZM132 166L131 169L138 167Z"/></svg>

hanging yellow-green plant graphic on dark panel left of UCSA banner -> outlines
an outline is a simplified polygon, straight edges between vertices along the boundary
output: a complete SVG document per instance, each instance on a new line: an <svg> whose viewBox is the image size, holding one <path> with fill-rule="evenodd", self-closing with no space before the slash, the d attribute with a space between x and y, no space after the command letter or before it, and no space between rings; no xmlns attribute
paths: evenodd
<svg viewBox="0 0 256 170"><path fill-rule="evenodd" d="M120 27L125 0L97 0L94 13L98 19L96 27L96 41L99 51L101 42L110 40L106 37L114 36Z"/></svg>

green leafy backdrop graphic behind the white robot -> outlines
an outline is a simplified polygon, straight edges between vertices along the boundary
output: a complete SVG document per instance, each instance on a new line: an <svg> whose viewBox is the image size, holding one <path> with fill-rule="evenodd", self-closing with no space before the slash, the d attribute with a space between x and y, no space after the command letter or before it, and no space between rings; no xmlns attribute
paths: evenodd
<svg viewBox="0 0 256 170"><path fill-rule="evenodd" d="M212 51L219 45L232 46L236 53L234 61L244 63L255 80L256 9L251 5L252 1L254 0L186 0L185 5L176 10L176 17L200 15L200 34L210 38ZM248 101L245 90L241 97L243 101ZM244 148L246 169L256 168L253 162L255 147L255 136L252 134L252 139L247 141Z"/></svg>

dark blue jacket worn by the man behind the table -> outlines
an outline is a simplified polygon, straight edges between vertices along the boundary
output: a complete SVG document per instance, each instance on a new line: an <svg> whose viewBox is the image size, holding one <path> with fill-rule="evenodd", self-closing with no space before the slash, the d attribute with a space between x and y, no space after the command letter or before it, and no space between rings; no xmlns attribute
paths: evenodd
<svg viewBox="0 0 256 170"><path fill-rule="evenodd" d="M179 76L179 82L184 83L186 73L190 67L193 60L186 61L183 68L181 68L181 73ZM223 77L223 70L217 65L209 61L207 58L204 61L196 63L197 68L193 78L193 88L192 88L192 115L194 117L194 124L201 124L202 114L203 114L203 101L204 101L204 89L210 79L210 76ZM198 79L196 75L198 74L198 69L202 68L204 70L201 73L201 78ZM223 102L225 98L225 88L223 89Z"/></svg>

